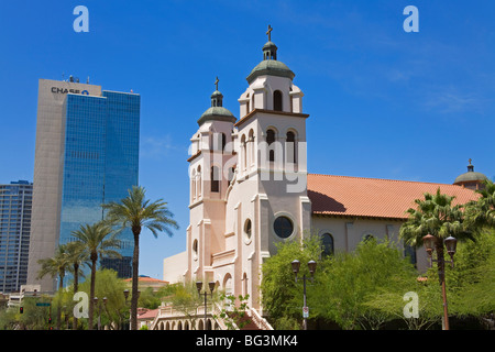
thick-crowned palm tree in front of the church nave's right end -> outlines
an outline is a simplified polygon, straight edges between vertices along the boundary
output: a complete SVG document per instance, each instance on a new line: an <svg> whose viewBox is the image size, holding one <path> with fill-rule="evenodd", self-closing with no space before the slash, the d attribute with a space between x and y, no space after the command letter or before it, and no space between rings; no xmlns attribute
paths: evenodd
<svg viewBox="0 0 495 352"><path fill-rule="evenodd" d="M426 235L433 237L438 275L440 285L442 286L444 301L443 310L447 330L449 329L449 320L447 312L443 241L450 237L454 237L459 241L466 239L474 240L472 231L463 223L463 206L452 206L454 198L440 194L440 188L437 189L437 194L435 195L426 193L425 200L415 200L417 208L409 208L407 210L409 218L399 230L399 237L404 242L416 248L421 246Z"/></svg>

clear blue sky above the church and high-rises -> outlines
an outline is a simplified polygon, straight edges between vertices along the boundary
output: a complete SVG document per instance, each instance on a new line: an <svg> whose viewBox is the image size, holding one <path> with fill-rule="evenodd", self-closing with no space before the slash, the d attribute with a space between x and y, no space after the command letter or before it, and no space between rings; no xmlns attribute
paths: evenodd
<svg viewBox="0 0 495 352"><path fill-rule="evenodd" d="M89 32L76 33L76 6ZM406 33L406 6L419 32ZM265 31L305 92L311 173L451 184L495 175L495 1L2 1L0 183L33 178L37 80L68 75L141 95L140 184L180 224L143 233L140 273L185 250L189 139L210 106L237 99Z"/></svg>

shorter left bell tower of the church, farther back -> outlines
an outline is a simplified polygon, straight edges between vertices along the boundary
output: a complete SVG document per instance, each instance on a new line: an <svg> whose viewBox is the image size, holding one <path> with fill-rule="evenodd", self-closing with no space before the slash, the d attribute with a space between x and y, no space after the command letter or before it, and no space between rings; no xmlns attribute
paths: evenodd
<svg viewBox="0 0 495 352"><path fill-rule="evenodd" d="M223 95L216 89L211 107L198 119L198 131L190 139L189 215L187 261L189 279L212 279L212 255L224 251L226 193L235 161L232 153L232 130L237 119L223 108ZM231 176L231 175L230 175Z"/></svg>

